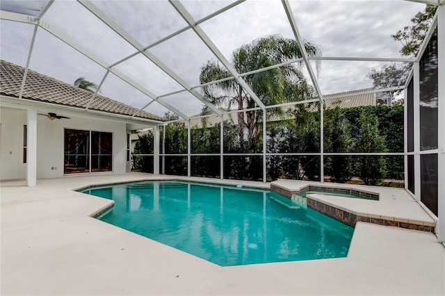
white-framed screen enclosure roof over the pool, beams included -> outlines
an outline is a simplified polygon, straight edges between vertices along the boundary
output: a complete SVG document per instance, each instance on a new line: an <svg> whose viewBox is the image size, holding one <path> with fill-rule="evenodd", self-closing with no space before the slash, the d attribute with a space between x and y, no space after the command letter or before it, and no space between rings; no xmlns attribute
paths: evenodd
<svg viewBox="0 0 445 296"><path fill-rule="evenodd" d="M92 100L101 94L159 116L171 111L184 120L199 116L203 106L220 116L230 111L209 103L200 84L208 60L217 60L230 74L218 81L235 80L255 108L271 106L243 77L291 63L302 63L322 101L326 94L372 87L366 74L373 68L419 60L401 56L401 44L390 35L410 26L426 3L440 2L1 1L1 59L70 84L85 77L98 85ZM309 57L303 50L297 60L238 73L232 52L273 34L312 42L323 55ZM319 72L316 62L321 62Z"/></svg>

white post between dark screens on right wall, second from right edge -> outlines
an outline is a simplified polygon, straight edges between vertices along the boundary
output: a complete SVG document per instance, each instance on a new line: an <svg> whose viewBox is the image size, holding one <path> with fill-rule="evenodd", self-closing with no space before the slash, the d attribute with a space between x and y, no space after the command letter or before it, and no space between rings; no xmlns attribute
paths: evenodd
<svg viewBox="0 0 445 296"><path fill-rule="evenodd" d="M420 81L419 81L419 62L414 63L414 72L412 74L414 103L413 103L413 122L414 122L414 197L416 200L421 198L421 171L420 171Z"/></svg>

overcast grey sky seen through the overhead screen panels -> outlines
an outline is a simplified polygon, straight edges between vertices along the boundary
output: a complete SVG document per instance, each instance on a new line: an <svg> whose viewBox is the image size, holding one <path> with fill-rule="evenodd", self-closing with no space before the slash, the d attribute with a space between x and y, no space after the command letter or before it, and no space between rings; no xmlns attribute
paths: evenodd
<svg viewBox="0 0 445 296"><path fill-rule="evenodd" d="M199 20L233 1L185 0L181 1L193 19ZM1 1L2 10L38 15L47 1ZM113 19L124 31L144 47L179 31L186 22L168 1L92 1L102 12ZM412 1L289 1L300 35L316 44L325 57L347 58L401 58L401 44L391 34L411 24L410 19L425 5ZM42 17L45 26L69 36L106 65L125 58L136 49L125 42L111 28L92 15L76 1L56 0ZM282 1L247 0L200 24L200 27L231 59L234 49L254 39L271 34L294 38ZM0 20L0 58L17 65L26 65L34 26ZM216 57L188 29L165 42L148 49L161 63L179 75L189 86L199 85L200 68L207 60ZM385 63L364 61L323 60L317 75L322 94L370 88L366 77L373 67ZM314 68L314 65L312 65ZM99 84L106 69L83 54L58 40L42 28L38 29L30 69L66 83L79 77ZM183 89L142 54L115 66L115 69L140 83L156 96ZM307 79L307 71L305 71ZM199 89L197 89L199 90ZM118 76L106 77L100 94L142 108L151 99ZM189 92L180 92L162 98L184 114L200 113L202 103ZM146 109L163 115L167 109L154 102Z"/></svg>

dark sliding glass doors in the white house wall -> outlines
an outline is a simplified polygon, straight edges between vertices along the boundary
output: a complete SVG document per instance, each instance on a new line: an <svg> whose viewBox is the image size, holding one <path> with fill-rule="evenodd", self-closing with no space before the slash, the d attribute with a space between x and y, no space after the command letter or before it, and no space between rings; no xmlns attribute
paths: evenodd
<svg viewBox="0 0 445 296"><path fill-rule="evenodd" d="M64 174L113 170L113 133L65 129Z"/></svg>

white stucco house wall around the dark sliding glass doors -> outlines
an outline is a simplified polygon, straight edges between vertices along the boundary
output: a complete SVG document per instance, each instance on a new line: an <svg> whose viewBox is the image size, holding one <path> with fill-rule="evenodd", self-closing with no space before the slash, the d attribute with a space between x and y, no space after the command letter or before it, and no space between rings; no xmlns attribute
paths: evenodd
<svg viewBox="0 0 445 296"><path fill-rule="evenodd" d="M71 117L71 119L51 121L45 116L38 116L38 179L63 176L64 129L83 129L113 133L113 172L126 172L127 124L79 115L64 115ZM23 125L26 124L26 110L1 108L0 121L0 179L24 179L26 178L26 164L22 163L22 130ZM9 154L9 151L12 154ZM51 170L51 167L54 169Z"/></svg>

